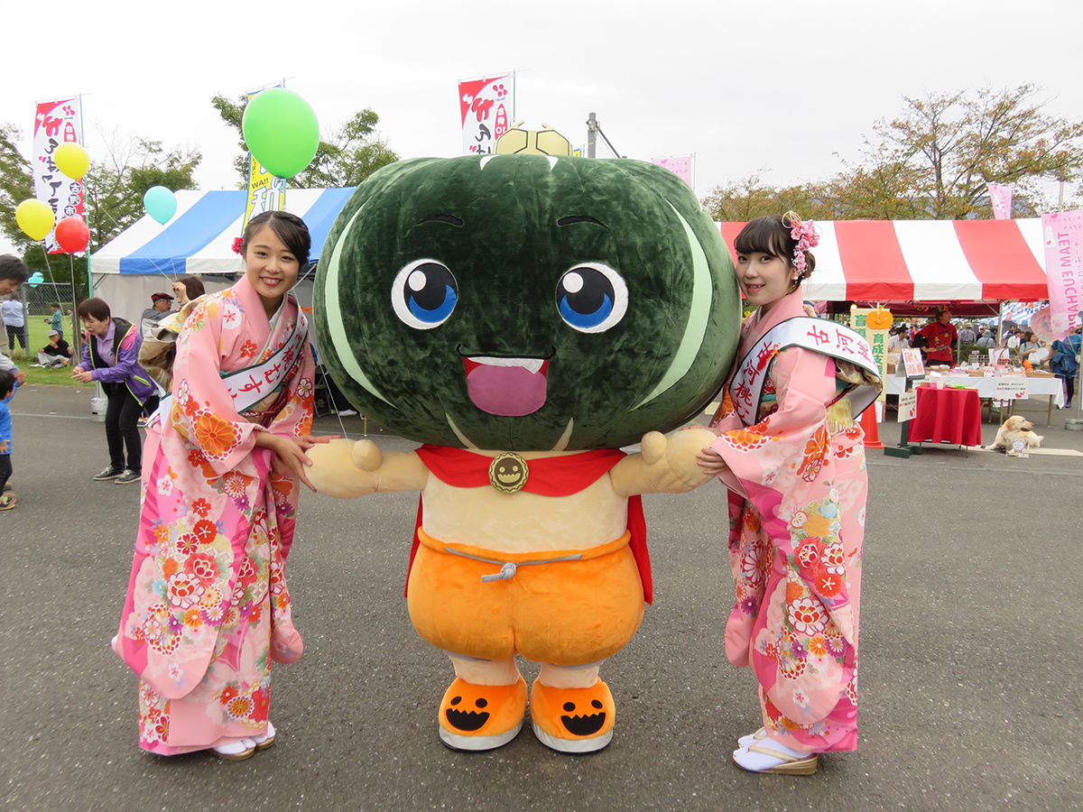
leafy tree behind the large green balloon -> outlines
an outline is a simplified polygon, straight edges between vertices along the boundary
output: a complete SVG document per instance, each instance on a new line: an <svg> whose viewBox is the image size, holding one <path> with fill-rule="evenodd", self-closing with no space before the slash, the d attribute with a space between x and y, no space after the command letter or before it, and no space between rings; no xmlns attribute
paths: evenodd
<svg viewBox="0 0 1083 812"><path fill-rule="evenodd" d="M222 120L237 131L238 145L243 155L234 158L233 166L240 176L239 188L248 187L248 145L245 143L240 122L245 114L247 96L231 101L225 96L211 100ZM316 157L300 174L290 180L299 188L327 188L331 186L356 186L380 167L399 160L387 141L379 137L376 126L380 117L371 107L366 107L334 131L328 140L321 140Z"/></svg>

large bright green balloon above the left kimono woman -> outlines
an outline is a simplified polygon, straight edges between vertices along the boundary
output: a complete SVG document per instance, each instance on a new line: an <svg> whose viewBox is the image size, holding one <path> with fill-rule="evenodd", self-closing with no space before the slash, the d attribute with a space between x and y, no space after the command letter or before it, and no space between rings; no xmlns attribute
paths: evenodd
<svg viewBox="0 0 1083 812"><path fill-rule="evenodd" d="M303 172L319 148L315 110L285 88L271 88L252 96L240 129L252 157L277 178Z"/></svg>

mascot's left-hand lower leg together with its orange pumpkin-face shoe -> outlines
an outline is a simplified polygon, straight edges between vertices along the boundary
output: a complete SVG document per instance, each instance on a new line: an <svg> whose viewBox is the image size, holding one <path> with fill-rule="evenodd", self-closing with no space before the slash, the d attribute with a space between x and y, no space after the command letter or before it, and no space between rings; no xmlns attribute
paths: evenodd
<svg viewBox="0 0 1083 812"><path fill-rule="evenodd" d="M492 750L519 735L526 681L514 657L477 659L446 652L455 681L440 703L440 739L455 750Z"/></svg>

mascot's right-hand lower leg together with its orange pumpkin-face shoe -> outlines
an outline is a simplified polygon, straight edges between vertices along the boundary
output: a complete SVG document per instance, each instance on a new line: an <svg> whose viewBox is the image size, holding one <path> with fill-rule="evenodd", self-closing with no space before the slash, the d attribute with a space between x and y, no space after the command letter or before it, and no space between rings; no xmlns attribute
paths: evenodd
<svg viewBox="0 0 1083 812"><path fill-rule="evenodd" d="M613 739L613 694L598 679L600 667L601 663L571 668L543 664L531 690L531 723L546 747L593 752Z"/></svg>

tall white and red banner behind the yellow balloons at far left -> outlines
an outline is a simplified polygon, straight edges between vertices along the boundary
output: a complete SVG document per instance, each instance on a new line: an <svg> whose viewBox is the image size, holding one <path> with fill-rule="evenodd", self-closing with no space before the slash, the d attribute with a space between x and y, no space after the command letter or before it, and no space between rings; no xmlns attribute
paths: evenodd
<svg viewBox="0 0 1083 812"><path fill-rule="evenodd" d="M61 144L82 143L79 105L78 99L41 102L34 116L34 196L52 207L56 220L87 219L82 181L73 181L53 162L53 153ZM45 250L64 253L55 232L45 235Z"/></svg>

